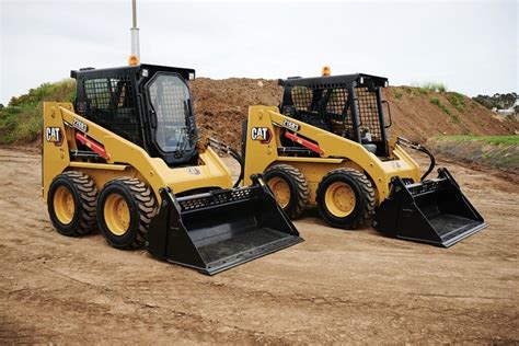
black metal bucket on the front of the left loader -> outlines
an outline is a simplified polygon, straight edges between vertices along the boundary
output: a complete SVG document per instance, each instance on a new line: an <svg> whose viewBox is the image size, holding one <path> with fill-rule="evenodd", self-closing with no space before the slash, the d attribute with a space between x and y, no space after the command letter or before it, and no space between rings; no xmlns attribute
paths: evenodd
<svg viewBox="0 0 519 346"><path fill-rule="evenodd" d="M263 178L254 176L253 182L178 198L163 188L148 251L212 275L302 242Z"/></svg>

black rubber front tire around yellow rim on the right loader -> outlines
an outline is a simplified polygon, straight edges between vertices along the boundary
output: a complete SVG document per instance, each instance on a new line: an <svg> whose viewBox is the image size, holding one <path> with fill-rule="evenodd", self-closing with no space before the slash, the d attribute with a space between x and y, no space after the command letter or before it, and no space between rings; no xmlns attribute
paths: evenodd
<svg viewBox="0 0 519 346"><path fill-rule="evenodd" d="M355 193L354 210L345 217L334 216L325 203L326 189L335 182L348 184ZM356 229L374 215L374 189L371 181L354 169L330 171L319 183L316 203L321 217L331 226L344 229Z"/></svg>

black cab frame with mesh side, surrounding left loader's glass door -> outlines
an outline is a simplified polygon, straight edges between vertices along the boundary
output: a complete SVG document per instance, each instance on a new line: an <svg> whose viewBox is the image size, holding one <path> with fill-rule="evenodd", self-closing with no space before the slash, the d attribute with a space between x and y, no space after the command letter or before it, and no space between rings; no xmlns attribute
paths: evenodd
<svg viewBox="0 0 519 346"><path fill-rule="evenodd" d="M141 64L107 69L72 70L77 81L74 111L143 148L151 157L162 158L169 165L196 161L196 146L182 155L164 152L155 140L151 118L152 107L147 84L159 73L178 76L185 82L195 79L195 70ZM186 126L196 140L196 124L192 101Z"/></svg>

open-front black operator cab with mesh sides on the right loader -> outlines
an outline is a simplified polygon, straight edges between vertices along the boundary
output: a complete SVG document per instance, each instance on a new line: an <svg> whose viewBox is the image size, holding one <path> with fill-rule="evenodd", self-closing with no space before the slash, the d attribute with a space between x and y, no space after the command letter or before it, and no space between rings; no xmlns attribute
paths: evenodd
<svg viewBox="0 0 519 346"><path fill-rule="evenodd" d="M389 157L381 88L388 79L365 73L288 78L279 109L284 115L361 143ZM388 106L389 107L389 106Z"/></svg>

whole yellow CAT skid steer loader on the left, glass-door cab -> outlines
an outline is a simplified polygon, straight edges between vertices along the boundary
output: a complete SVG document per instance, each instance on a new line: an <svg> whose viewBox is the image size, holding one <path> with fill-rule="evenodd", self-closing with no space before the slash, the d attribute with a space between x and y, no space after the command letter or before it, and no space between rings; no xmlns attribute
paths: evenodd
<svg viewBox="0 0 519 346"><path fill-rule="evenodd" d="M198 138L194 70L139 65L71 77L74 105L44 104L43 198L59 233L99 228L115 247L147 244L206 274L302 241L261 175L233 187Z"/></svg>

